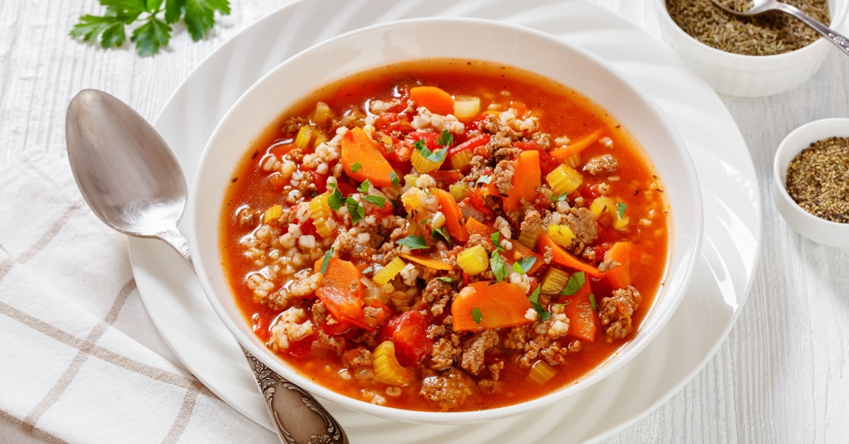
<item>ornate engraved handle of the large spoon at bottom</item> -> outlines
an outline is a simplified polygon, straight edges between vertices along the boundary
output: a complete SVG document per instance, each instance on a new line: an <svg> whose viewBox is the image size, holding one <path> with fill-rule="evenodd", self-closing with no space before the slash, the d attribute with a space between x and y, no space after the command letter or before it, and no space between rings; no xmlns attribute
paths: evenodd
<svg viewBox="0 0 849 444"><path fill-rule="evenodd" d="M245 347L242 351L281 441L287 444L348 442L345 430L312 395L261 363Z"/></svg>

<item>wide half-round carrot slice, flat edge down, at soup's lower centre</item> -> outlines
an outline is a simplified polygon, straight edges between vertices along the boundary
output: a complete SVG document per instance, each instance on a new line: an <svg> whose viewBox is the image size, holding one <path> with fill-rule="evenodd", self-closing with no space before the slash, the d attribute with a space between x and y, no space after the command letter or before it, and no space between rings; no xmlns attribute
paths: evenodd
<svg viewBox="0 0 849 444"><path fill-rule="evenodd" d="M454 331L515 327L532 322L525 317L528 309L533 309L531 301L514 284L481 281L467 285L454 298L451 319Z"/></svg>

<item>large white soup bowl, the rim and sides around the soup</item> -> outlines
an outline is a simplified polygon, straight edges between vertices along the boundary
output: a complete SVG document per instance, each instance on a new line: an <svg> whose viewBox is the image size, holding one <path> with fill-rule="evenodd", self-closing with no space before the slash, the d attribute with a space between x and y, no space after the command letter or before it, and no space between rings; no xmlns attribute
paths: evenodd
<svg viewBox="0 0 849 444"><path fill-rule="evenodd" d="M458 43L459 42L459 43ZM643 145L665 183L672 208L672 256L661 294L638 334L608 363L574 385L509 407L435 413L382 407L342 396L298 374L256 338L233 302L216 241L225 189L250 143L290 104L330 81L415 59L477 59L521 67L576 89L621 121ZM264 76L228 111L200 160L188 202L194 264L211 305L237 340L278 374L324 399L386 419L466 424L505 418L586 389L635 357L655 338L683 298L699 256L702 205L689 153L660 108L603 60L554 37L515 25L473 19L418 19L374 25L299 53Z"/></svg>

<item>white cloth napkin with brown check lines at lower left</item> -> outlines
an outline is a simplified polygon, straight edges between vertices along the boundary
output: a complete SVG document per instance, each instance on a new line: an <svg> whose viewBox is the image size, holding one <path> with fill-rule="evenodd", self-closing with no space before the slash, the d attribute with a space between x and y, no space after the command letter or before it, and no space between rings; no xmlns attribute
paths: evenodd
<svg viewBox="0 0 849 444"><path fill-rule="evenodd" d="M174 357L127 254L65 155L0 165L0 419L52 442L276 441Z"/></svg>

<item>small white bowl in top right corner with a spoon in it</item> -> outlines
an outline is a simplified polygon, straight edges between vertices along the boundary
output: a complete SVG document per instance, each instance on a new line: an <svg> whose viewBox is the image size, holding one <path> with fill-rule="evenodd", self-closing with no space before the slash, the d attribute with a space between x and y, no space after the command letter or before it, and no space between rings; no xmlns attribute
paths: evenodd
<svg viewBox="0 0 849 444"><path fill-rule="evenodd" d="M807 81L829 51L839 51L824 38L806 47L776 55L741 55L711 48L684 32L669 16L666 0L655 0L661 35L669 46L717 93L761 97L783 93ZM839 30L849 8L847 0L827 0L830 27Z"/></svg>

